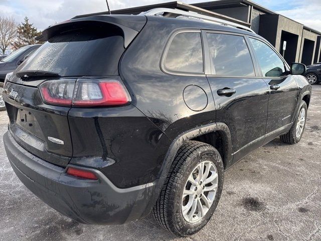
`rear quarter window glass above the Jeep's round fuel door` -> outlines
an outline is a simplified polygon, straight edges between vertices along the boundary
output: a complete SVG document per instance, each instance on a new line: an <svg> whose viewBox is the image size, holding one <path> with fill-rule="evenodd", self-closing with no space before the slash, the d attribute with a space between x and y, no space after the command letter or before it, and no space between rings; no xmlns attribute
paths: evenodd
<svg viewBox="0 0 321 241"><path fill-rule="evenodd" d="M201 33L175 35L166 56L165 67L179 72L203 73Z"/></svg>

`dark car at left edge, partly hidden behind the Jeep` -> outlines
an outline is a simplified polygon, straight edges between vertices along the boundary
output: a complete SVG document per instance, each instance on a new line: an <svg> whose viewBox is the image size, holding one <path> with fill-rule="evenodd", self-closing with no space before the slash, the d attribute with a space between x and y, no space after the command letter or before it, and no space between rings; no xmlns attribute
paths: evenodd
<svg viewBox="0 0 321 241"><path fill-rule="evenodd" d="M26 58L34 53L41 44L24 46L9 56L1 59L0 57L0 111L5 110L5 102L3 101L2 93L4 91L4 82L6 75L13 72Z"/></svg>

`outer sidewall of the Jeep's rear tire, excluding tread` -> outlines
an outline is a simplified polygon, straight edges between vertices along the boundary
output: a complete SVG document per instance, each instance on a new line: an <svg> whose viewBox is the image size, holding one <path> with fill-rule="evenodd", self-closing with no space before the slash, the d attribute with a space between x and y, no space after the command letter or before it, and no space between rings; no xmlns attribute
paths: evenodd
<svg viewBox="0 0 321 241"><path fill-rule="evenodd" d="M200 151L200 150L198 150ZM195 223L189 223L185 220L182 213L182 196L183 190L185 188L186 182L188 180L189 175L195 169L195 167L204 161L211 161L218 172L218 189L215 195L215 199L213 204L210 207L210 210L206 213L206 215L199 221ZM202 148L197 154L194 154L189 160L187 160L187 165L184 168L183 175L177 182L176 190L174 193L174 205L173 205L173 218L176 225L179 227L180 232L184 235L190 235L197 231L199 231L212 217L218 202L220 200L220 196L223 189L223 179L224 179L224 167L222 158L219 152L212 148L211 146L206 146Z"/></svg>

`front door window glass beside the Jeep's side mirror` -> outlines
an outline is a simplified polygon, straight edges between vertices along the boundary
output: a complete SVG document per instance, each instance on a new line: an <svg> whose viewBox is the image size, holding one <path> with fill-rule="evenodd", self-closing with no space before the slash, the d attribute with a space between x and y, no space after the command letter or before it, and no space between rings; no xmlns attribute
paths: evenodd
<svg viewBox="0 0 321 241"><path fill-rule="evenodd" d="M257 61L265 77L279 77L285 75L285 67L280 57L267 44L250 38Z"/></svg>

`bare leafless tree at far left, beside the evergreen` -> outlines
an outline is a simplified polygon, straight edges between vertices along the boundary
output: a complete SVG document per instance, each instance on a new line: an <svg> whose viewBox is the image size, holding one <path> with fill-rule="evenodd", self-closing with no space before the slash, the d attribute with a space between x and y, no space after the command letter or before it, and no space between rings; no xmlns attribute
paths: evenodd
<svg viewBox="0 0 321 241"><path fill-rule="evenodd" d="M17 23L14 18L0 17L0 50L5 54L17 36Z"/></svg>

